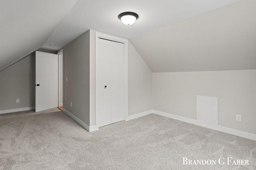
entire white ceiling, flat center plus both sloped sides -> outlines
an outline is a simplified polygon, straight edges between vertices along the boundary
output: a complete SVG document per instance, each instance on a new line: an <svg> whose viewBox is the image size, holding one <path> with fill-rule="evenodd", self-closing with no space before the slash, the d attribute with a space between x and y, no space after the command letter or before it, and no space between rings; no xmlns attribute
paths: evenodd
<svg viewBox="0 0 256 170"><path fill-rule="evenodd" d="M0 70L37 49L57 51L88 29L130 39L153 72L251 69L255 5L254 0L3 0ZM126 11L139 15L133 25L118 20Z"/></svg>

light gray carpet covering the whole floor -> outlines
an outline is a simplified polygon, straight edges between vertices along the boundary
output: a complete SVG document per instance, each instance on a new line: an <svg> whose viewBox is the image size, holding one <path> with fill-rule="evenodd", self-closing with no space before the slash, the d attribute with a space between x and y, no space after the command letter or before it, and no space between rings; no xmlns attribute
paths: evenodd
<svg viewBox="0 0 256 170"><path fill-rule="evenodd" d="M183 157L250 165L182 165ZM24 111L0 116L0 169L256 169L256 141L155 114L88 133L62 111Z"/></svg>

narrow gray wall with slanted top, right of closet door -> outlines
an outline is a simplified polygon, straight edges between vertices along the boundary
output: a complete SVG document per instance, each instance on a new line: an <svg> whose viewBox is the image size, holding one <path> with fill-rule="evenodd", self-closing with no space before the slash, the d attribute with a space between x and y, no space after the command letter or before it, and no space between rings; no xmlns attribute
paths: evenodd
<svg viewBox="0 0 256 170"><path fill-rule="evenodd" d="M152 71L128 41L128 115L152 109Z"/></svg>

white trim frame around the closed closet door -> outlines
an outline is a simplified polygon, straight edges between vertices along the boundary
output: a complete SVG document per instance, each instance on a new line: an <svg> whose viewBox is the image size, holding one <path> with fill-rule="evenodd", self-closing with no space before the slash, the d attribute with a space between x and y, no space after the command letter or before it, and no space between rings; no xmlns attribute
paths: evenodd
<svg viewBox="0 0 256 170"><path fill-rule="evenodd" d="M128 39L116 37L114 35L109 35L109 34L100 33L96 31L95 32L95 71L96 71L96 58L98 58L99 38L110 40L110 41L116 41L119 43L124 43L124 120L126 121L128 118ZM95 79L95 82L96 82L96 79ZM96 105L95 105L95 110L96 110ZM98 118L98 114L97 114L97 111L95 111L96 129L99 128L97 118Z"/></svg>

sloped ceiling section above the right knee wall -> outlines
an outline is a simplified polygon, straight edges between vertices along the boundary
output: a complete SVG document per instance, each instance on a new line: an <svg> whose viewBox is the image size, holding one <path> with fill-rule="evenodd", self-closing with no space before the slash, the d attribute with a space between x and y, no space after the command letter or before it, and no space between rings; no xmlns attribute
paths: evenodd
<svg viewBox="0 0 256 170"><path fill-rule="evenodd" d="M152 72L256 69L256 1L242 0L130 39Z"/></svg>

